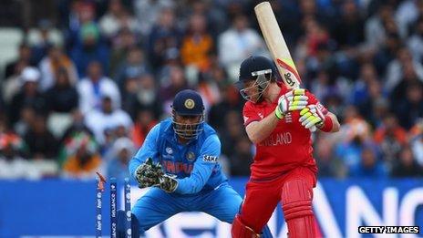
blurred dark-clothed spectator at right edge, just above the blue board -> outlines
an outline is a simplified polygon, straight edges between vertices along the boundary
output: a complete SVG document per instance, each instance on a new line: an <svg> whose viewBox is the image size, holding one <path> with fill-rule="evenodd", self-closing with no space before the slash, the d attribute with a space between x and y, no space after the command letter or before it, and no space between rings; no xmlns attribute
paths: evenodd
<svg viewBox="0 0 423 238"><path fill-rule="evenodd" d="M398 160L391 172L393 177L421 177L423 168L413 157L413 151L405 146L399 152Z"/></svg>

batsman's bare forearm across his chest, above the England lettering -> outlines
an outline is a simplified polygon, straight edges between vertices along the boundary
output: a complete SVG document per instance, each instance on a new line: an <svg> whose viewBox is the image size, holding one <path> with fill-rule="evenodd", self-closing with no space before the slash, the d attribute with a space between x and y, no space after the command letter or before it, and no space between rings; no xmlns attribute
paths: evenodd
<svg viewBox="0 0 423 238"><path fill-rule="evenodd" d="M274 113L271 113L260 121L250 123L245 130L248 138L254 143L258 144L270 136L273 129L276 127L280 119L276 118Z"/></svg>

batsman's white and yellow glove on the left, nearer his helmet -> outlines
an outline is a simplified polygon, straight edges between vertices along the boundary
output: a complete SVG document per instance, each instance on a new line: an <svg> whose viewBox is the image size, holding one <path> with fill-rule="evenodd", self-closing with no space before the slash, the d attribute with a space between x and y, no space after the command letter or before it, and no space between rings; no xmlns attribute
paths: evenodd
<svg viewBox="0 0 423 238"><path fill-rule="evenodd" d="M291 90L279 98L274 114L278 119L283 119L290 111L304 109L307 106L307 99L305 89Z"/></svg>

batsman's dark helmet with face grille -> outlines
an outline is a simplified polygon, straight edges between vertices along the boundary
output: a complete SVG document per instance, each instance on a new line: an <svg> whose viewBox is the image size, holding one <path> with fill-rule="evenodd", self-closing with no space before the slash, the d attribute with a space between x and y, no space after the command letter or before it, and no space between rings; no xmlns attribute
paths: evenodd
<svg viewBox="0 0 423 238"><path fill-rule="evenodd" d="M270 81L277 76L276 67L267 57L248 57L242 61L240 67L240 76L238 81L236 82L238 88L240 89L240 93L242 98L255 102L261 101L263 91L265 88L269 86ZM257 87L257 97L253 97L254 95L249 95L247 93L249 88L243 88L244 83L247 81L255 81L253 87ZM255 100L252 100L255 98Z"/></svg>

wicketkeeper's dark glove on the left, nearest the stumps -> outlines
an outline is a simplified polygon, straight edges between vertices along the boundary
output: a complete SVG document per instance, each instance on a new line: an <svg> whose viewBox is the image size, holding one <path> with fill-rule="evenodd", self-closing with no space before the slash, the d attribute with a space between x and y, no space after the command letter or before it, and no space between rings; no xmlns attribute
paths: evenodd
<svg viewBox="0 0 423 238"><path fill-rule="evenodd" d="M160 163L154 164L153 160L148 158L135 171L135 178L139 183L139 188L142 189L159 184L163 174Z"/></svg>

